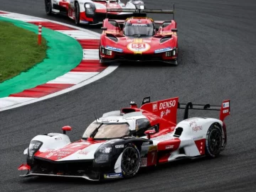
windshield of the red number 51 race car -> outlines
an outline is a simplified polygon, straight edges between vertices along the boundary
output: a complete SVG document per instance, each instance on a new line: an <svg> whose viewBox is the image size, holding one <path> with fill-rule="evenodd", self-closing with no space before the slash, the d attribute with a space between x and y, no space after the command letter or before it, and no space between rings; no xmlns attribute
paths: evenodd
<svg viewBox="0 0 256 192"><path fill-rule="evenodd" d="M127 36L153 36L154 26L152 23L126 23L124 35Z"/></svg>

